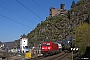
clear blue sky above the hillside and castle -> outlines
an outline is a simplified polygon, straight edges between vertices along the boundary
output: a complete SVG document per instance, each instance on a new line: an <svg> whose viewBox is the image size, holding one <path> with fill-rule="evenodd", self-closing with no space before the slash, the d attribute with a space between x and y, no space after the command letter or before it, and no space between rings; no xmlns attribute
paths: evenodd
<svg viewBox="0 0 90 60"><path fill-rule="evenodd" d="M34 30L49 16L49 9L69 10L73 0L0 0L0 41L10 42ZM78 0L74 0L77 2Z"/></svg>

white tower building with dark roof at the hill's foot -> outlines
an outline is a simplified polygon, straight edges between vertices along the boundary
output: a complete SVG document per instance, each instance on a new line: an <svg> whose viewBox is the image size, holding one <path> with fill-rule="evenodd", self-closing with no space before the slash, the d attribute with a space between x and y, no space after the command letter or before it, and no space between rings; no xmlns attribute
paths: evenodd
<svg viewBox="0 0 90 60"><path fill-rule="evenodd" d="M20 50L22 53L25 53L25 46L28 46L28 38L23 34L20 36Z"/></svg>

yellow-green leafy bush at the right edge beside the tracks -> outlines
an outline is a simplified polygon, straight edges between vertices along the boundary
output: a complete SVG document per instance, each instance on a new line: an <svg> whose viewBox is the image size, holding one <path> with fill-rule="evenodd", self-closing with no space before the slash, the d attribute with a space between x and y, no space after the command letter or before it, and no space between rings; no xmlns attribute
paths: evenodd
<svg viewBox="0 0 90 60"><path fill-rule="evenodd" d="M82 23L76 29L76 44L80 48L80 52L83 54L86 51L86 47L90 46L90 24Z"/></svg>

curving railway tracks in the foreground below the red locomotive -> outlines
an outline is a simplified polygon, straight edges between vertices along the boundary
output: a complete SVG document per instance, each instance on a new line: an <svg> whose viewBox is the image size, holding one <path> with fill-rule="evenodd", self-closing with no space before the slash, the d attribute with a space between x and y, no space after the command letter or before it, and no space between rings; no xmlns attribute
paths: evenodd
<svg viewBox="0 0 90 60"><path fill-rule="evenodd" d="M68 60L67 59L68 54L69 53L62 52L62 53L59 53L53 56L37 57L37 58L30 59L30 60Z"/></svg>

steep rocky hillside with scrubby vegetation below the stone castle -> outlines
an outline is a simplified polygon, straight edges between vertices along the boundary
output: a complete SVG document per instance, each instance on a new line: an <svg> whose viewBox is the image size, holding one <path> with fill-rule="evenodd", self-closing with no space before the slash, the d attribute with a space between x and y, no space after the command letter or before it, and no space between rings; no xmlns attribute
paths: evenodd
<svg viewBox="0 0 90 60"><path fill-rule="evenodd" d="M29 43L34 42L38 44L41 41L57 41L65 39L66 36L75 35L76 27L86 21L90 14L90 1L80 0L78 3L72 3L71 6L72 8L68 14L49 17L39 23L27 35Z"/></svg>

